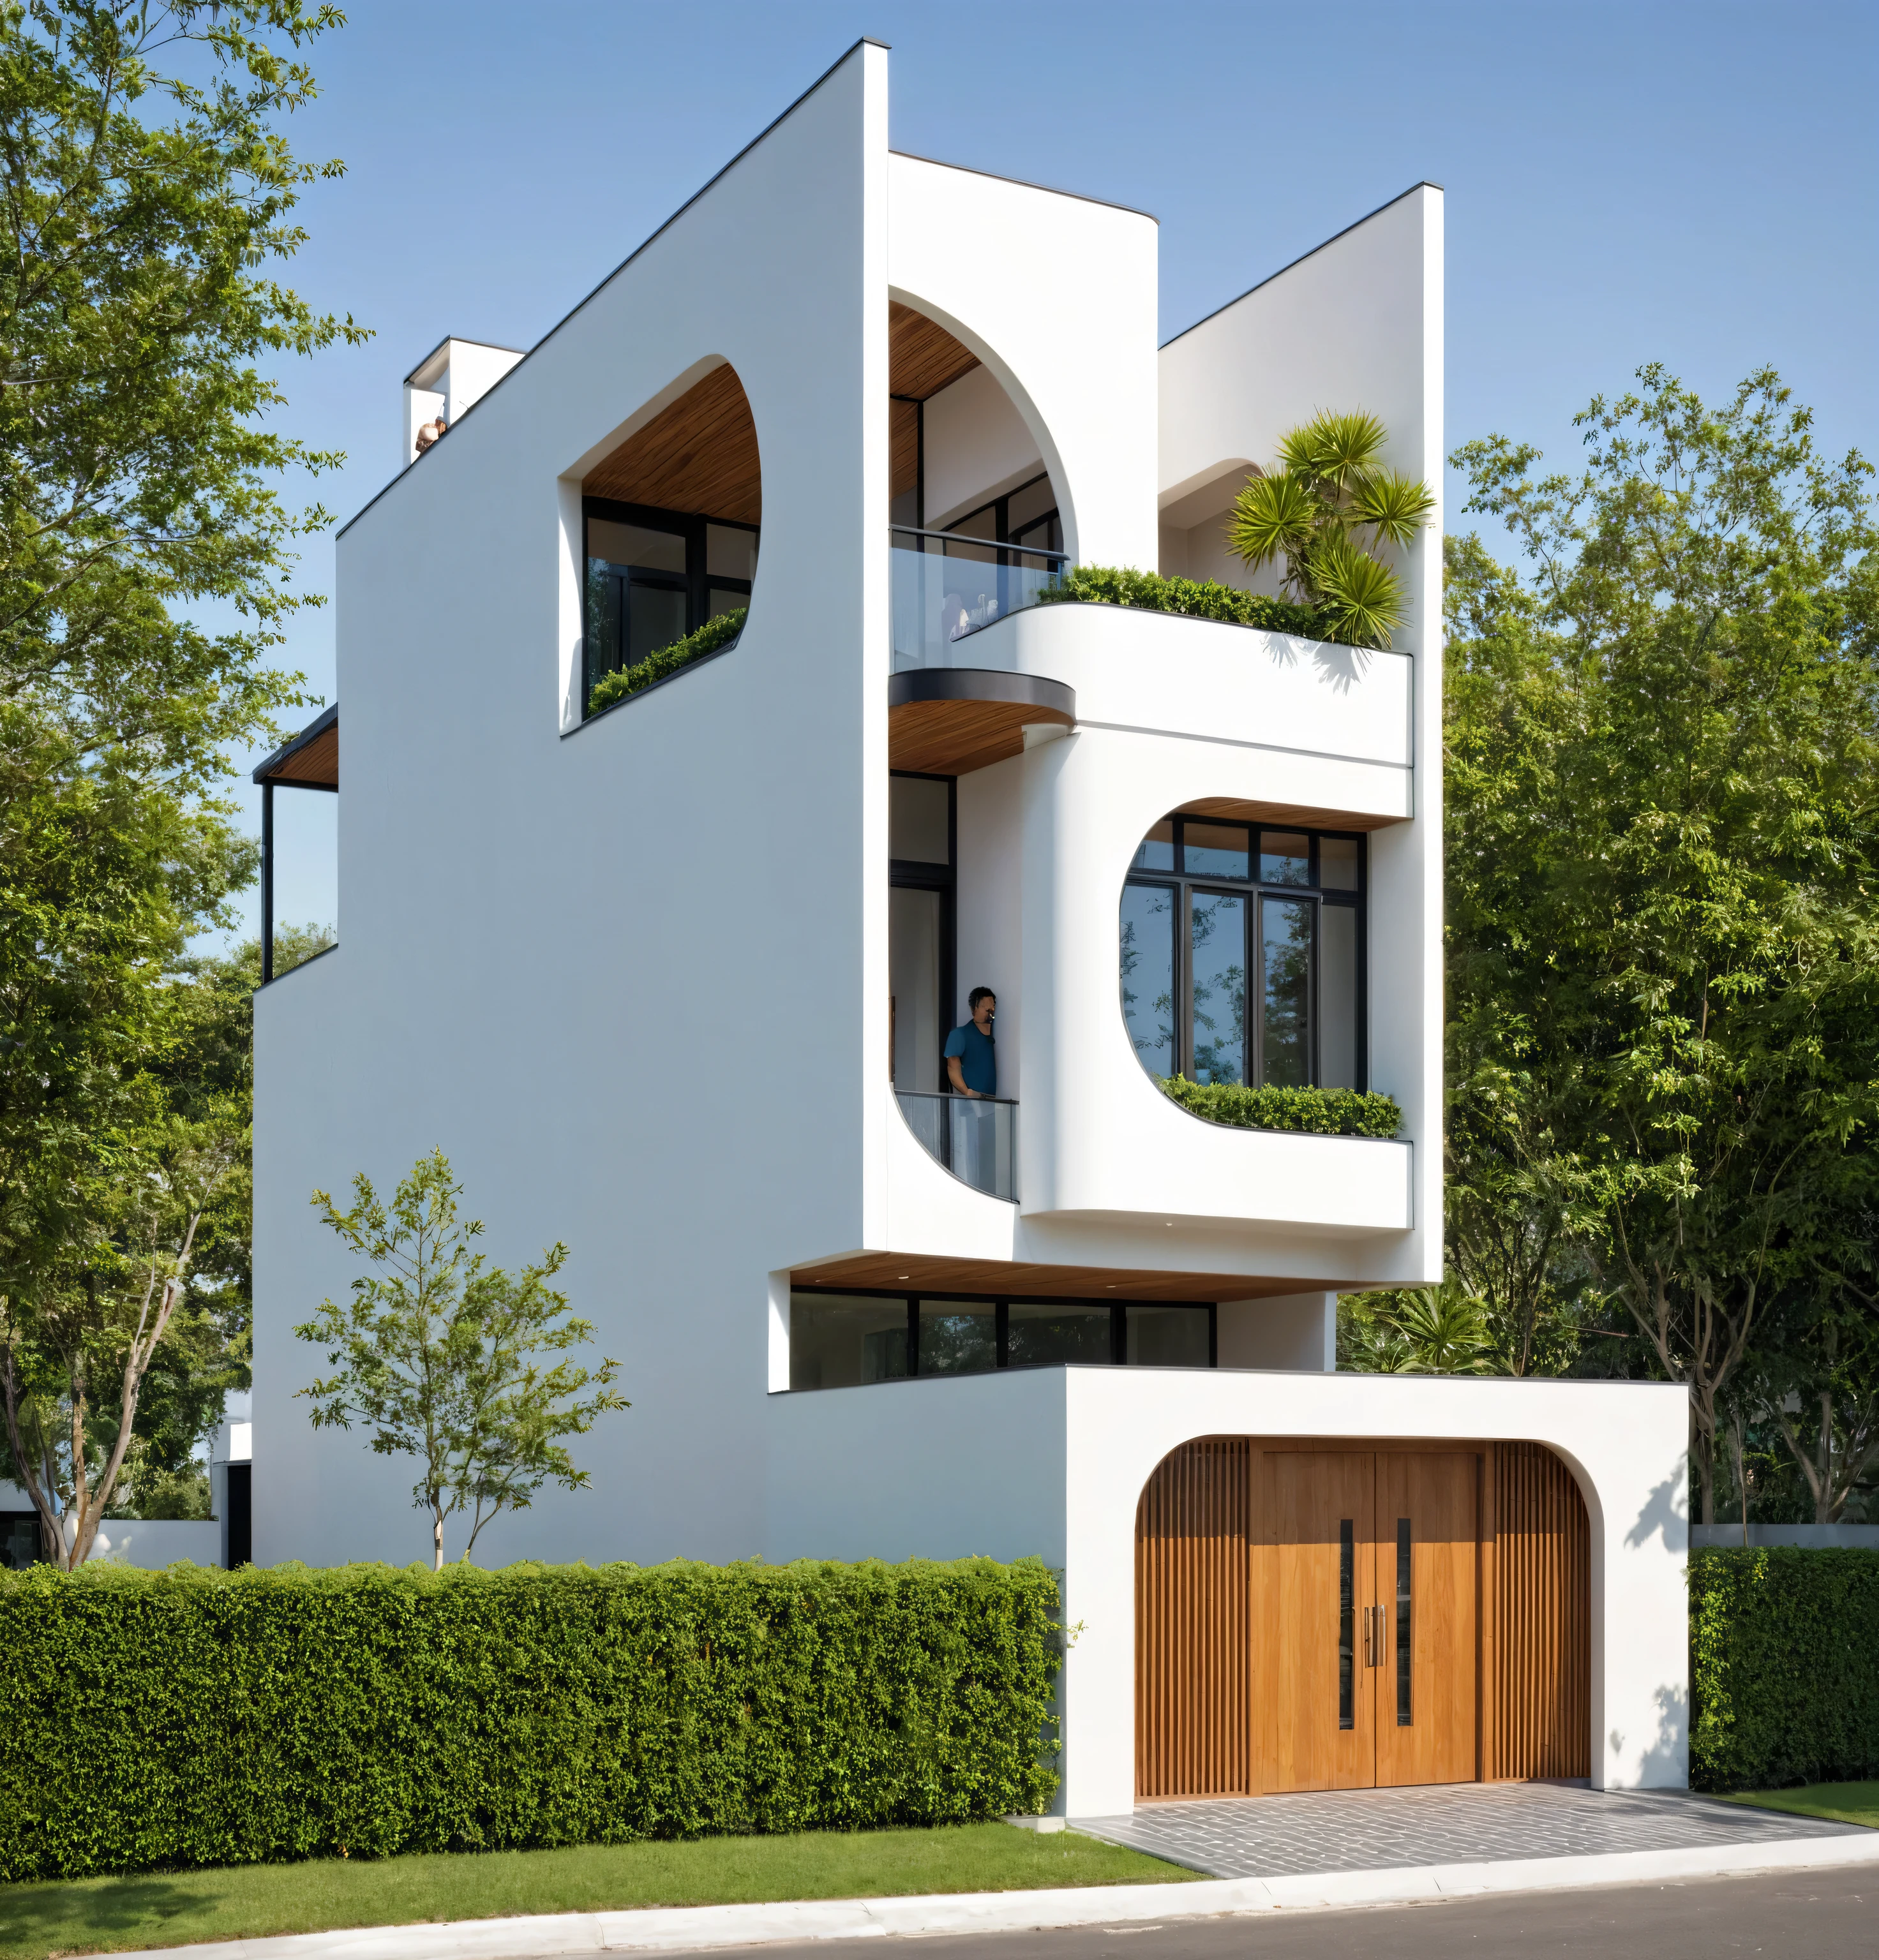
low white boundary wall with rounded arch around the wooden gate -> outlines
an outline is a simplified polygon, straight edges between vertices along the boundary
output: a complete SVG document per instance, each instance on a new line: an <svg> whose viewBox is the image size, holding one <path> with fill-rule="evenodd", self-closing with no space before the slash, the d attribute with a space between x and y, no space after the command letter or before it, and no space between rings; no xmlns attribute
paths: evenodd
<svg viewBox="0 0 1879 1960"><path fill-rule="evenodd" d="M1275 1319L1293 1319L1279 1301ZM1136 1505L1194 1437L1546 1443L1591 1515L1593 1784L1689 1780L1687 1401L1661 1384L1065 1368L773 1401L765 1554L1040 1554L1065 1572L1055 1809L1134 1803Z"/></svg>

